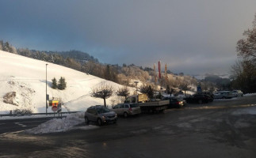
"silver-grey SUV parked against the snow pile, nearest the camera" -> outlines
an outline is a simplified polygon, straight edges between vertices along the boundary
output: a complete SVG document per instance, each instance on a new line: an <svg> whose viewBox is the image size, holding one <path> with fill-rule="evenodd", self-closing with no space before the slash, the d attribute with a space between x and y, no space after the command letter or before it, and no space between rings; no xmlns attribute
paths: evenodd
<svg viewBox="0 0 256 158"><path fill-rule="evenodd" d="M97 122L98 126L108 122L117 122L117 113L115 111L109 111L107 107L96 105L87 108L85 112L85 122Z"/></svg>

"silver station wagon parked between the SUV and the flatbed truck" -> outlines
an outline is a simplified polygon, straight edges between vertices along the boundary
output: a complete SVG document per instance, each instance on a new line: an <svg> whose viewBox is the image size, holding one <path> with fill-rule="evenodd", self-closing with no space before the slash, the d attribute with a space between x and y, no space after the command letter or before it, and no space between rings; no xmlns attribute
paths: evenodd
<svg viewBox="0 0 256 158"><path fill-rule="evenodd" d="M139 115L141 113L138 103L119 103L111 111L115 111L117 115L124 115L124 118L128 115Z"/></svg>

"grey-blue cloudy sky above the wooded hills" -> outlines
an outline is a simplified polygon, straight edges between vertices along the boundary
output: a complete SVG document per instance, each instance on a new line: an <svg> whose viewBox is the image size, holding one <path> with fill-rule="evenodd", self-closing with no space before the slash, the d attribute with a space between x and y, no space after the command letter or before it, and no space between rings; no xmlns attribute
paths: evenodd
<svg viewBox="0 0 256 158"><path fill-rule="evenodd" d="M255 0L0 0L0 40L100 62L229 73Z"/></svg>

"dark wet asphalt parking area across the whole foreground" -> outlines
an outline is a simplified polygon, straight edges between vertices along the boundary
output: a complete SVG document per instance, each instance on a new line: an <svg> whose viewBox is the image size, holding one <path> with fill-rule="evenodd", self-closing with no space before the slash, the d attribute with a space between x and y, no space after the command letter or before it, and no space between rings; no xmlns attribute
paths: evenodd
<svg viewBox="0 0 256 158"><path fill-rule="evenodd" d="M0 134L0 157L256 157L256 115L248 114L255 103L246 96L120 118L93 130L8 132Z"/></svg>

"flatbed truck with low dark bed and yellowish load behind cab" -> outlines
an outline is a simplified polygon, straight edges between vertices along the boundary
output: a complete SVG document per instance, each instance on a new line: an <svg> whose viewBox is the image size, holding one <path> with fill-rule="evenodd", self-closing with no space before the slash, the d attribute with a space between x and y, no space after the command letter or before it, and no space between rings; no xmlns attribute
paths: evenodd
<svg viewBox="0 0 256 158"><path fill-rule="evenodd" d="M124 103L138 103L143 113L163 112L170 104L169 100L148 100L146 94L128 96Z"/></svg>

